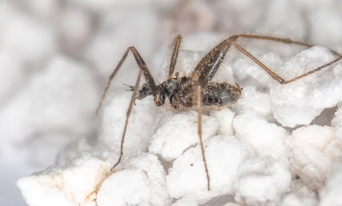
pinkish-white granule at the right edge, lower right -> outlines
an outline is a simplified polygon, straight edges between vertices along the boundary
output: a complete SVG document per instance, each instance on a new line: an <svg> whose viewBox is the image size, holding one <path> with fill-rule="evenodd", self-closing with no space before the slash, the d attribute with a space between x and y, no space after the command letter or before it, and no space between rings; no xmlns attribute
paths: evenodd
<svg viewBox="0 0 342 206"><path fill-rule="evenodd" d="M342 161L342 139L331 127L309 125L292 132L290 169L312 189L321 189L331 167Z"/></svg>

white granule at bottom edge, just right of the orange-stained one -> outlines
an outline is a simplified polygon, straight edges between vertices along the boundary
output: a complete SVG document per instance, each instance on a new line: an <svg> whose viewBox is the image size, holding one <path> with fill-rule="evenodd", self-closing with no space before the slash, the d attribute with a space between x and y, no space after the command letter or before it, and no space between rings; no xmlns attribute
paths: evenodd
<svg viewBox="0 0 342 206"><path fill-rule="evenodd" d="M97 195L98 206L169 206L166 172L158 158L136 153L123 161L124 169L110 175Z"/></svg>

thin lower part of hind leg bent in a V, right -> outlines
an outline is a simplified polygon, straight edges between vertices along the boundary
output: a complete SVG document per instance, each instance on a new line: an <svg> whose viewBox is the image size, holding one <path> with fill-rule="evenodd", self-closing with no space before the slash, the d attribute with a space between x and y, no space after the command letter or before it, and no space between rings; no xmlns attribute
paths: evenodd
<svg viewBox="0 0 342 206"><path fill-rule="evenodd" d="M254 57L251 53L249 53L248 51L246 51L244 48L242 48L241 46L239 46L238 44L236 44L235 42L232 43L232 45L234 45L239 51L241 51L243 54L245 54L246 56L248 56L250 59L252 59L256 64L258 64L262 69L264 69L268 74L270 74L270 76L272 78L274 78L275 80L277 80L280 84L288 84L290 82L293 82L293 81L296 81L300 78L303 78L309 74L312 74L312 73L315 73L316 71L319 71L325 67L328 67L330 65L333 65L335 64L336 62L340 61L342 59L342 56L338 57L337 59L325 64L325 65L322 65L321 67L318 67L316 69L313 69L309 72L306 72L302 75L299 75L293 79L290 79L290 80L287 80L285 81L283 78L279 77L276 73L274 73L273 71L271 71L271 69L269 69L268 67L266 67L264 64L262 64L258 59L256 59L256 57Z"/></svg>

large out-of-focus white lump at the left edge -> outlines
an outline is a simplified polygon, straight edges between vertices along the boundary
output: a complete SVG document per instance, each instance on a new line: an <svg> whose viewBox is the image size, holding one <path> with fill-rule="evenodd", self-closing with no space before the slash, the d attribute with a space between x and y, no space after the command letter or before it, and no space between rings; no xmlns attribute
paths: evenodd
<svg viewBox="0 0 342 206"><path fill-rule="evenodd" d="M86 69L56 55L34 74L2 108L1 153L8 155L26 145L10 159L25 157L39 165L50 164L61 147L89 132L99 95Z"/></svg>

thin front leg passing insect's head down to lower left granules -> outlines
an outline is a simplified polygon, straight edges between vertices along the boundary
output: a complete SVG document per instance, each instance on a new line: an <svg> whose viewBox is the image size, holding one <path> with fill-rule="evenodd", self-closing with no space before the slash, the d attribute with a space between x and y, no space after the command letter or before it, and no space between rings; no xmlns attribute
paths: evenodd
<svg viewBox="0 0 342 206"><path fill-rule="evenodd" d="M126 113L126 121L125 121L124 132L123 132L122 137L121 137L119 160L110 169L110 171L112 171L112 172L114 172L115 167L121 162L122 156L124 154L124 142L125 142L125 135L126 135L126 130L127 130L127 126L128 126L128 118L129 118L130 112L132 111L132 107L133 107L133 104L134 104L134 101L135 101L136 93L138 92L138 87L139 87L141 75L142 75L142 73L144 72L145 69L147 69L147 68L145 66L143 66L143 69L139 70L138 79L137 79L137 81L135 83L135 87L134 87L134 90L133 90L133 93L132 93L132 97L130 99L128 110L127 110L127 113Z"/></svg>

